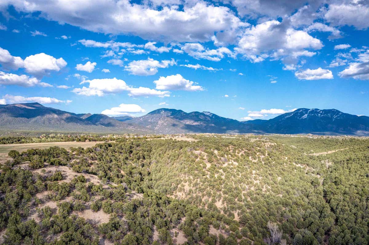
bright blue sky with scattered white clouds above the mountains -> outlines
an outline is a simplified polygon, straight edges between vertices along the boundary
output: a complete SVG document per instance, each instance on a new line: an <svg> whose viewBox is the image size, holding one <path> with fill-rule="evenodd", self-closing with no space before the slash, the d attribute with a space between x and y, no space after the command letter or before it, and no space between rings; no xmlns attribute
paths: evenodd
<svg viewBox="0 0 369 245"><path fill-rule="evenodd" d="M368 116L368 3L273 2L1 1L0 103Z"/></svg>

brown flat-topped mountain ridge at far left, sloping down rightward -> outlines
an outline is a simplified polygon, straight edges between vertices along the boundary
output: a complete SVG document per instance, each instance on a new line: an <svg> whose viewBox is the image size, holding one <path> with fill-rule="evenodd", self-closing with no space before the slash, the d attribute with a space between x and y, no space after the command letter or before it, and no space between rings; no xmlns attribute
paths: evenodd
<svg viewBox="0 0 369 245"><path fill-rule="evenodd" d="M103 114L75 114L39 103L0 105L0 129L61 132L142 132L146 128Z"/></svg>

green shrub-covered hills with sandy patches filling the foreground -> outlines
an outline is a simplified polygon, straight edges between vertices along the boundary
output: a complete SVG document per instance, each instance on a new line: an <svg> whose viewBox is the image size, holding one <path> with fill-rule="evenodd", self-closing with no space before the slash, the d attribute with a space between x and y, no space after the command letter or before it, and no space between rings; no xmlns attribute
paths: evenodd
<svg viewBox="0 0 369 245"><path fill-rule="evenodd" d="M368 244L368 138L186 137L11 150L0 241Z"/></svg>

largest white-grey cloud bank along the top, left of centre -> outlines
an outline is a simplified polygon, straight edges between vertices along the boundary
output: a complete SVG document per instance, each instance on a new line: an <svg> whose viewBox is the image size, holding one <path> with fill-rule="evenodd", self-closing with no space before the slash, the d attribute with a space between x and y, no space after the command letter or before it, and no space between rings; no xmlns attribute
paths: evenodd
<svg viewBox="0 0 369 245"><path fill-rule="evenodd" d="M228 7L214 6L206 1L183 2L178 5L157 8L148 4L122 1L6 1L17 11L42 15L59 23L68 23L93 32L105 34L130 34L147 40L178 42L204 42L214 33L219 39L232 40L242 22ZM165 3L168 3L165 1ZM99 18L96 18L96 17Z"/></svg>

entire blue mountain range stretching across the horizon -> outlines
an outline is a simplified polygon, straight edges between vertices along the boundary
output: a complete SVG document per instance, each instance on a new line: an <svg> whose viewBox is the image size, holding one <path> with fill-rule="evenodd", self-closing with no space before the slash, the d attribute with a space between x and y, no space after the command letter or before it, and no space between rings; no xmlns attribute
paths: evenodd
<svg viewBox="0 0 369 245"><path fill-rule="evenodd" d="M1 130L115 133L256 133L369 135L369 117L301 108L269 120L238 121L208 111L161 108L141 117L75 114L39 103L0 105Z"/></svg>

